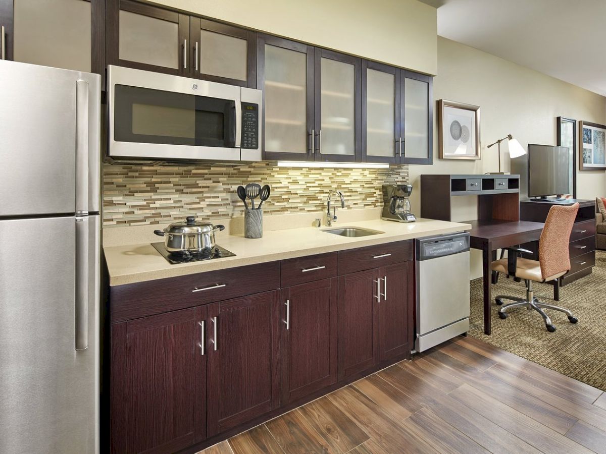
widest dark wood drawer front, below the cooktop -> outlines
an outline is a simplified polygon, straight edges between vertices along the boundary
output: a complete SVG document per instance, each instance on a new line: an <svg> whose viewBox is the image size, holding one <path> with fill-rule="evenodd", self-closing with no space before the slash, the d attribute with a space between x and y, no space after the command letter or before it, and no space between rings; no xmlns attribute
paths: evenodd
<svg viewBox="0 0 606 454"><path fill-rule="evenodd" d="M279 262L119 285L110 288L110 319L132 320L279 287Z"/></svg>

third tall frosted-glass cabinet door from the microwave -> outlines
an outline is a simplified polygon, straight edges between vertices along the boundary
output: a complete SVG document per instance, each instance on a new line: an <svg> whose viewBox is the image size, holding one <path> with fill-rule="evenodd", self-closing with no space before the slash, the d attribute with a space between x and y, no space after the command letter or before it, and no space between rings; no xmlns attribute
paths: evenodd
<svg viewBox="0 0 606 454"><path fill-rule="evenodd" d="M399 162L400 70L362 62L362 160Z"/></svg>

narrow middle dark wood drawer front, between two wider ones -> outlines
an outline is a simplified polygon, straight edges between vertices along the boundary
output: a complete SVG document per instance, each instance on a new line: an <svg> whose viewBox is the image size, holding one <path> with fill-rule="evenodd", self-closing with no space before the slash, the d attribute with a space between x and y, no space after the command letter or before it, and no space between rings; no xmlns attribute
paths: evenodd
<svg viewBox="0 0 606 454"><path fill-rule="evenodd" d="M337 253L308 255L280 262L281 288L337 275Z"/></svg>

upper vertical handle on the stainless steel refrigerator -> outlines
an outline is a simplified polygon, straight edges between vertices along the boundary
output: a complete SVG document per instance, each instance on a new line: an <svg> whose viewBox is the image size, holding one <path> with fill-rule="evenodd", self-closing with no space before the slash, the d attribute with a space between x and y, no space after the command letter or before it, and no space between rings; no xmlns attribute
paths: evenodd
<svg viewBox="0 0 606 454"><path fill-rule="evenodd" d="M88 90L76 81L76 214L88 213Z"/></svg>

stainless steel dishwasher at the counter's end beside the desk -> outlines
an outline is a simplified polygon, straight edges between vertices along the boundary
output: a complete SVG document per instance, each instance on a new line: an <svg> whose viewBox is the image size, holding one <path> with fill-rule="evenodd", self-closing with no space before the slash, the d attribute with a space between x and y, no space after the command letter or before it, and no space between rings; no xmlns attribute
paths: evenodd
<svg viewBox="0 0 606 454"><path fill-rule="evenodd" d="M415 241L418 352L469 329L469 246L468 233Z"/></svg>

